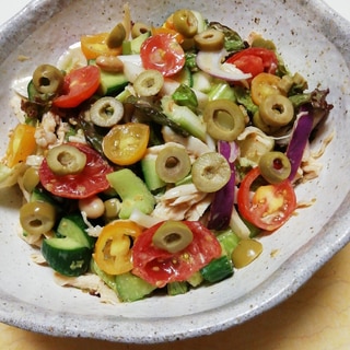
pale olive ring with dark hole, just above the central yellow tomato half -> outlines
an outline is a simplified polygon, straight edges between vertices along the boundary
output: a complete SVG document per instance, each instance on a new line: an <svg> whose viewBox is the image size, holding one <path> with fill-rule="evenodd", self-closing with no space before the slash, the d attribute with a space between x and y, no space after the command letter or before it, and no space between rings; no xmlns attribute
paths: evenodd
<svg viewBox="0 0 350 350"><path fill-rule="evenodd" d="M98 98L90 108L90 118L98 127L113 127L122 116L122 103L112 96Z"/></svg>

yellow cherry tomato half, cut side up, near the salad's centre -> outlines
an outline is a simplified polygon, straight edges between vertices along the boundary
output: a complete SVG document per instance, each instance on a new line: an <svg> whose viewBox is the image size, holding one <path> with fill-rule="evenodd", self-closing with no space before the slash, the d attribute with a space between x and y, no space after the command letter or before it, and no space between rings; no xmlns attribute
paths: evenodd
<svg viewBox="0 0 350 350"><path fill-rule="evenodd" d="M142 159L149 139L150 127L148 125L118 124L103 138L102 149L110 162L118 165L131 165Z"/></svg>

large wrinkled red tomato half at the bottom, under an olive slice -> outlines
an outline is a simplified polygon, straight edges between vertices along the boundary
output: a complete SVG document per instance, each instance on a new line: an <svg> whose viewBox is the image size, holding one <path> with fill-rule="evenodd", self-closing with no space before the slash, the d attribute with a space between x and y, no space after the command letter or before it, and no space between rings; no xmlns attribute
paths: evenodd
<svg viewBox="0 0 350 350"><path fill-rule="evenodd" d="M198 221L183 221L192 232L192 242L183 250L168 253L155 247L152 237L163 222L145 230L136 240L132 250L132 273L159 288L185 281L212 259L221 256L221 246L210 230Z"/></svg>

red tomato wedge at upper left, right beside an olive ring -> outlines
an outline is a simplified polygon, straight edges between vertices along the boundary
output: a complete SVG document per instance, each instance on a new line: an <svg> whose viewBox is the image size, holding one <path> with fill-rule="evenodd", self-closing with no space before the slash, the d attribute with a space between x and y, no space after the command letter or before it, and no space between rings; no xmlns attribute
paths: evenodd
<svg viewBox="0 0 350 350"><path fill-rule="evenodd" d="M91 97L100 86L100 69L85 66L70 71L65 77L62 94L52 101L59 108L73 108Z"/></svg>

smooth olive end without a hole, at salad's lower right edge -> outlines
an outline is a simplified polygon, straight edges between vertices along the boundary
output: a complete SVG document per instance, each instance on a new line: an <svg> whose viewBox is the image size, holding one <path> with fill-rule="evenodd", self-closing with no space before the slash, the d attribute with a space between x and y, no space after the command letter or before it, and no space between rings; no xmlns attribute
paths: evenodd
<svg viewBox="0 0 350 350"><path fill-rule="evenodd" d="M232 262L237 269L253 262L262 252L262 244L256 240L241 240L232 252Z"/></svg>

